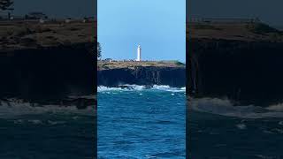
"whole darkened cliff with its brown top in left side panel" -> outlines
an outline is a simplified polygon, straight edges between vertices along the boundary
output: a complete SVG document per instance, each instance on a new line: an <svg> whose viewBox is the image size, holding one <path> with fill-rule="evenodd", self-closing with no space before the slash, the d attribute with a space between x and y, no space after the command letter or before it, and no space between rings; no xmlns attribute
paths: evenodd
<svg viewBox="0 0 283 159"><path fill-rule="evenodd" d="M95 103L83 97L96 93L95 20L22 19L1 21L0 28L1 101Z"/></svg>

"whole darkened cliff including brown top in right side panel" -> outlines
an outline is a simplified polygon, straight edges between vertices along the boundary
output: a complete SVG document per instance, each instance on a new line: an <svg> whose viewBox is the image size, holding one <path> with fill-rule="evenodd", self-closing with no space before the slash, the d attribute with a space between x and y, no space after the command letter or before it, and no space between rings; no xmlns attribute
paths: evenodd
<svg viewBox="0 0 283 159"><path fill-rule="evenodd" d="M249 23L187 26L187 30L188 95L228 98L235 105L283 102L279 30Z"/></svg>

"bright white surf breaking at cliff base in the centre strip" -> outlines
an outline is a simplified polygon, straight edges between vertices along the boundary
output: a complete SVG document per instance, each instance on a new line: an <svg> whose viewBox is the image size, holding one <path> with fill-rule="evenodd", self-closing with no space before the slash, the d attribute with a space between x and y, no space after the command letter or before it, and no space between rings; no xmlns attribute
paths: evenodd
<svg viewBox="0 0 283 159"><path fill-rule="evenodd" d="M121 85L119 87L97 87L97 92L109 91L142 91L142 90L160 90L169 92L186 92L186 87L170 87L166 85L153 85L152 87L141 85Z"/></svg>

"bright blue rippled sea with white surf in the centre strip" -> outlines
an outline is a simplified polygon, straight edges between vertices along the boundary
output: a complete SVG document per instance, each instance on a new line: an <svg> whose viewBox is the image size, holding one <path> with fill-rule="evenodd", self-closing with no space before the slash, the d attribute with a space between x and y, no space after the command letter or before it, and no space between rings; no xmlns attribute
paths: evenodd
<svg viewBox="0 0 283 159"><path fill-rule="evenodd" d="M184 88L98 88L98 158L186 156Z"/></svg>

